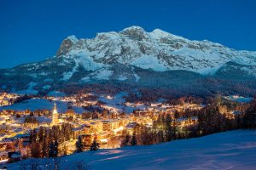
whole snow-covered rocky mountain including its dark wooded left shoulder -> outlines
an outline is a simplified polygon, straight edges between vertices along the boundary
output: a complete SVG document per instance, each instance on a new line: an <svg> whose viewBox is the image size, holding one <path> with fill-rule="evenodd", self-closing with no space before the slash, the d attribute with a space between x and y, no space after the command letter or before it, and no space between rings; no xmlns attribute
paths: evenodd
<svg viewBox="0 0 256 170"><path fill-rule="evenodd" d="M147 78L145 72L163 75L170 71L192 71L199 77L217 73L223 76L229 75L225 71L232 70L234 65L232 72L256 77L256 52L237 51L206 40L191 41L160 29L147 32L131 26L119 32L98 33L91 39L67 37L52 58L0 70L4 81L0 86L18 88L16 83L10 84L16 79L23 88L36 82L44 89L67 82L143 83Z"/></svg>

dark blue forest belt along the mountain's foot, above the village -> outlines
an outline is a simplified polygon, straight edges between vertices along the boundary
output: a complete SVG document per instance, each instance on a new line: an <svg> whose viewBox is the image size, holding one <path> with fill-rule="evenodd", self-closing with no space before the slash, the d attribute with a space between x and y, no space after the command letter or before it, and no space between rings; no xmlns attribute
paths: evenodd
<svg viewBox="0 0 256 170"><path fill-rule="evenodd" d="M160 77L159 74L148 77L147 72L144 75L145 77L141 77L140 81L136 83L108 81L83 85L70 84L63 87L61 91L66 94L86 94L92 92L96 92L96 94L117 94L125 91L129 94L125 96L127 102L153 102L157 99L168 99L171 101L183 96L193 96L195 100L200 99L204 103L210 103L216 94L230 95L236 92L237 94L252 96L256 92L255 79L252 78L238 78L236 80L225 77L201 77L190 72L192 75L186 79L181 77L187 77L189 72L185 71L181 75L180 73L169 72L170 78L168 78L166 75Z"/></svg>

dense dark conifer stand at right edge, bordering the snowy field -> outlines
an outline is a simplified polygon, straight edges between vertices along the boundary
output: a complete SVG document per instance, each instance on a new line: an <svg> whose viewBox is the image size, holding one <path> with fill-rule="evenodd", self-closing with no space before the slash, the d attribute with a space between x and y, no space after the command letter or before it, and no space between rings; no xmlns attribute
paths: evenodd
<svg viewBox="0 0 256 170"><path fill-rule="evenodd" d="M220 113L220 105L207 105L198 114L199 132L201 135L224 132L236 129L256 128L256 99L249 105L236 105L237 113L233 113L232 119L224 113ZM234 108L234 105L230 107Z"/></svg>

